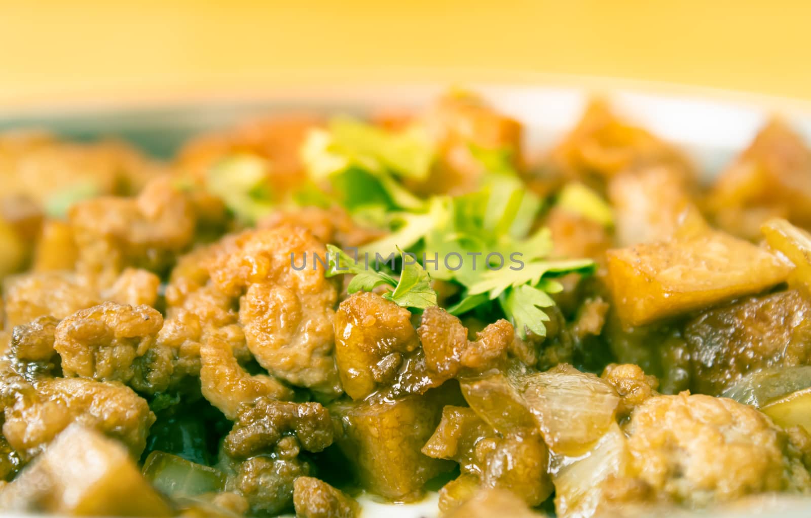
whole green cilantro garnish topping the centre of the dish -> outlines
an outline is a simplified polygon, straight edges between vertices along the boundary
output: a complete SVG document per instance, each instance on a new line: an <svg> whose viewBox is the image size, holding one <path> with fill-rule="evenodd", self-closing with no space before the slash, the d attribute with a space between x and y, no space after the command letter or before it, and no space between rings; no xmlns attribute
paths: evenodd
<svg viewBox="0 0 811 518"><path fill-rule="evenodd" d="M434 161L434 149L418 130L393 133L338 118L326 130L311 132L303 148L311 180L320 185L328 181L333 197L356 218L370 220L371 216L390 231L361 247L361 255L388 257L395 250L400 254L407 250L423 259L426 268L428 257L440 258L430 259L429 275L403 255L397 278L329 246L327 275L354 274L349 293L388 286L385 298L418 309L437 303L431 277L444 280L461 288L457 302L448 307L453 315L491 310L497 304L519 336L526 337L527 332L545 336L544 322L550 318L545 310L555 304L551 294L562 289L552 279L571 272L593 272L594 262L550 259L551 234L535 228L543 200L518 177L510 150L471 144L470 155L484 172L478 191L420 199L401 183L403 179L425 181ZM603 210L602 200L584 189L564 191L559 201L565 208L610 224L611 215ZM444 263L442 258L451 254L465 259L459 268ZM516 257L520 268L516 263L488 259L493 255Z"/></svg>

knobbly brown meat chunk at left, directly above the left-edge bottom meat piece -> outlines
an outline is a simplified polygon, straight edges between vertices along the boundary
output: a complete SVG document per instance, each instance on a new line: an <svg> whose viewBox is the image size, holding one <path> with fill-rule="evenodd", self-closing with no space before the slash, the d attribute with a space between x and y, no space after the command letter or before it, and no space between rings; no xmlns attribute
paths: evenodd
<svg viewBox="0 0 811 518"><path fill-rule="evenodd" d="M163 317L149 306L105 302L77 311L56 328L54 349L66 377L120 381L139 392L163 392L174 353L157 345Z"/></svg>

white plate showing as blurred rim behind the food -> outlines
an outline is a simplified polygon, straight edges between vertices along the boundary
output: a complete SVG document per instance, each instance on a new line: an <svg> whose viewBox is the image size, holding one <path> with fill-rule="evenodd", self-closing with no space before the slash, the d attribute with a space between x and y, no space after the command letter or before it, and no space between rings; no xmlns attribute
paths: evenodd
<svg viewBox="0 0 811 518"><path fill-rule="evenodd" d="M565 84L569 80L569 84ZM554 81L556 86L470 84L497 109L526 126L526 149L543 152L559 140L580 118L594 92L594 81L584 88L577 79ZM608 86L606 86L608 84ZM614 83L616 84L616 83ZM811 141L811 109L799 102L766 99L723 92L684 88L613 88L597 83L616 111L663 139L675 143L711 178L745 148L758 129L780 112ZM92 106L60 109L30 109L6 113L0 130L21 126L45 126L69 137L93 138L120 135L135 140L152 152L167 155L183 139L198 131L228 126L245 118L277 111L309 109L327 113L368 113L380 108L419 109L444 91L444 85L423 84L392 87L368 85L340 88L300 88L251 96L250 101L218 96L208 100L162 102L152 105ZM667 93L663 93L667 91ZM787 109L786 107L791 107ZM381 504L363 499L363 518L431 518L436 516L436 494L409 505ZM761 503L746 512L723 516L809 516L808 503L782 502L778 507ZM14 516L14 515L10 515ZM16 515L19 516L19 515ZM689 513L685 516L693 516ZM19 516L23 518L23 516Z"/></svg>

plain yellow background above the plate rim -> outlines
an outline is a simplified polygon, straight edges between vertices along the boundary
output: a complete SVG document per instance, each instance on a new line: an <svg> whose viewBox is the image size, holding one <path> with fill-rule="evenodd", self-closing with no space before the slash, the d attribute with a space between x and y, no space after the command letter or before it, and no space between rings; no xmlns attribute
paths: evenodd
<svg viewBox="0 0 811 518"><path fill-rule="evenodd" d="M0 0L0 105L470 71L809 99L809 28L786 0Z"/></svg>

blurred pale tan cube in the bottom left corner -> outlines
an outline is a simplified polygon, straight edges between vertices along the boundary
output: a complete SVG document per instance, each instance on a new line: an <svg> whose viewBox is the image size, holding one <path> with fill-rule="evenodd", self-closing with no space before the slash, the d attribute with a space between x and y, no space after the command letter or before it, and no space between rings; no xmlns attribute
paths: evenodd
<svg viewBox="0 0 811 518"><path fill-rule="evenodd" d="M80 424L66 430L0 489L6 512L75 516L171 516L130 452Z"/></svg>

